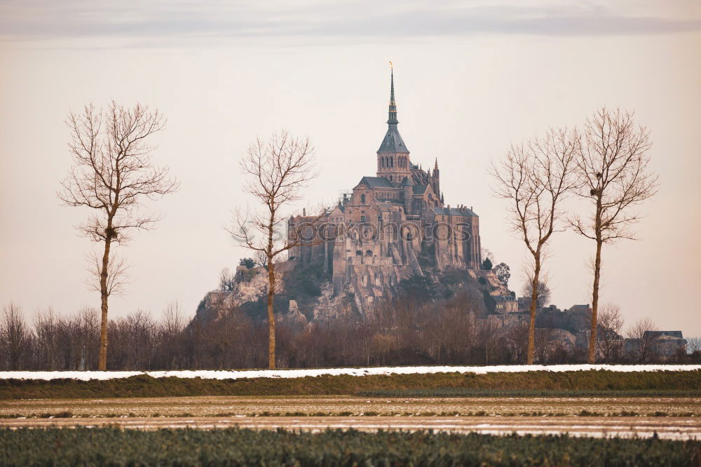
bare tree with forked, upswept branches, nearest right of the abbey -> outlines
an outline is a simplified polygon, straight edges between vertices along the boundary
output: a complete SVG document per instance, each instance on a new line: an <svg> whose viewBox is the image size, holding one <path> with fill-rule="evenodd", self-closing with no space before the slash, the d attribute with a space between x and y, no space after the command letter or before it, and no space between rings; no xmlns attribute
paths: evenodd
<svg viewBox="0 0 701 467"><path fill-rule="evenodd" d="M536 308L545 245L561 230L562 201L576 183L575 156L579 151L576 131L550 130L543 138L515 144L501 164L492 164L496 196L510 203L510 224L531 254L531 310L526 363L533 364Z"/></svg>

